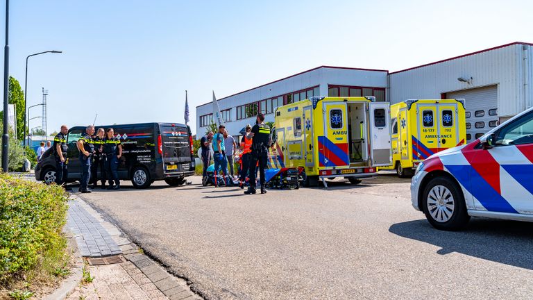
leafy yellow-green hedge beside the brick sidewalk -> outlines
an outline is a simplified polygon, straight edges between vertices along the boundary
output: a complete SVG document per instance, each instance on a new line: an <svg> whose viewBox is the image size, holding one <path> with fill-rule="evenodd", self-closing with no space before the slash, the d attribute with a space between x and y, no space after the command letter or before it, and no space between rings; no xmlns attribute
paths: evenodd
<svg viewBox="0 0 533 300"><path fill-rule="evenodd" d="M0 174L0 287L65 251L66 218L62 188Z"/></svg>

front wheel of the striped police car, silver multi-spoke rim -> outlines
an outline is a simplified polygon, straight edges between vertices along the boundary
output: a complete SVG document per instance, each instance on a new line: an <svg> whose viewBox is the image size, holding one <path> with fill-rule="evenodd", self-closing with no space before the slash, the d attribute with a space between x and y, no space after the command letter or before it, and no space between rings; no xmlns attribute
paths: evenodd
<svg viewBox="0 0 533 300"><path fill-rule="evenodd" d="M422 209L428 222L437 229L456 231L470 219L457 183L447 177L433 178L424 188Z"/></svg>

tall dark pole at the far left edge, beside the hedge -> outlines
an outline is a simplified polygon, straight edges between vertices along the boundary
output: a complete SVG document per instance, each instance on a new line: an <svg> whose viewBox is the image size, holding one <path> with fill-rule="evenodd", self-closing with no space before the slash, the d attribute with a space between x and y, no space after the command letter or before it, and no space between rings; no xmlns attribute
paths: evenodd
<svg viewBox="0 0 533 300"><path fill-rule="evenodd" d="M6 173L8 172L8 166L9 166L8 100L9 100L9 0L6 0L6 46L3 47L3 135L2 135L2 171Z"/></svg>

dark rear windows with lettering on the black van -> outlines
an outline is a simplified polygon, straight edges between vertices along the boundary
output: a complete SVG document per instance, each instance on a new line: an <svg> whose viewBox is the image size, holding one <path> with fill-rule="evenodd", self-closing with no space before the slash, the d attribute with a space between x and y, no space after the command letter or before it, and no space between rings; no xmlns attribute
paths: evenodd
<svg viewBox="0 0 533 300"><path fill-rule="evenodd" d="M186 127L161 126L161 142L164 158L189 158L189 134Z"/></svg>

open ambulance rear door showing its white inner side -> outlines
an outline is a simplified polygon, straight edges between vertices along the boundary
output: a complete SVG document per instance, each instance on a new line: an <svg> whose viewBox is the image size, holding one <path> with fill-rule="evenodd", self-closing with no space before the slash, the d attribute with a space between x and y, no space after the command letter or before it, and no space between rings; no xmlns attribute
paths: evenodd
<svg viewBox="0 0 533 300"><path fill-rule="evenodd" d="M370 148L373 167L391 165L390 103L370 102Z"/></svg>

